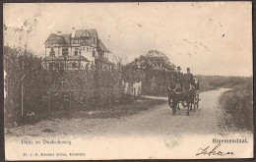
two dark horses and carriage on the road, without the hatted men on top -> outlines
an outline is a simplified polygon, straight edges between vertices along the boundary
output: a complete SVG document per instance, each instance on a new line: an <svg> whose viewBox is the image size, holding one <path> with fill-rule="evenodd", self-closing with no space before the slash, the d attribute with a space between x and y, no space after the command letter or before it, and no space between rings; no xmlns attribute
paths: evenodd
<svg viewBox="0 0 256 162"><path fill-rule="evenodd" d="M172 108L172 114L176 113L176 109L180 110L179 104L183 108L187 107L187 115L189 111L198 109L199 106L199 81L194 79L192 82L174 82L171 81L168 87L168 105ZM186 104L185 104L186 103Z"/></svg>

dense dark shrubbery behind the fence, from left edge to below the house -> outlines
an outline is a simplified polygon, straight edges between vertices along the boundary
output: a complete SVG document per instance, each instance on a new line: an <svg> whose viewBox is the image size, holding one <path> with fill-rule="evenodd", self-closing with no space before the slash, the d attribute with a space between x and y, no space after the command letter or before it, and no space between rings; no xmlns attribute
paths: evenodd
<svg viewBox="0 0 256 162"><path fill-rule="evenodd" d="M4 68L7 73L5 124L19 124L23 120L21 79L24 75L24 115L35 112L35 116L43 116L48 107L50 111L59 112L132 101L123 95L118 70L45 71L41 58L10 47L4 47Z"/></svg>

